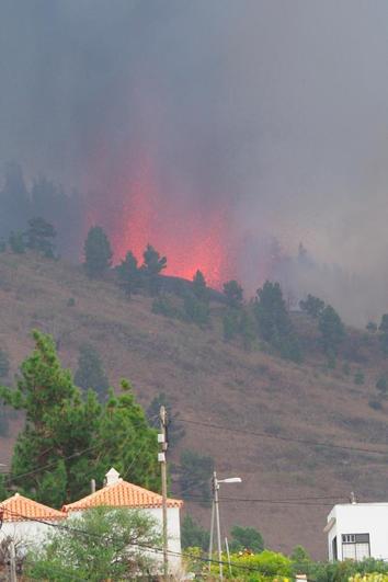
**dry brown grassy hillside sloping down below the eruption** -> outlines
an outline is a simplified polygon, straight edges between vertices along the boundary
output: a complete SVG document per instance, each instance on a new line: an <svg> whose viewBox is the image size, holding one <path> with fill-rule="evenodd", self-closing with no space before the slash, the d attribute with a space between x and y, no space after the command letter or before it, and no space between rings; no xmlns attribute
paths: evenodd
<svg viewBox="0 0 388 582"><path fill-rule="evenodd" d="M111 384L128 377L145 407L163 391L182 419L243 431L186 423L172 460L179 460L181 449L191 448L212 455L219 477L242 478L240 486L222 488L225 497L240 500L221 506L226 529L235 523L252 525L274 549L289 551L301 544L316 558L324 558L322 528L332 501L351 491L362 500L386 500L388 494L387 412L368 406L377 377L388 372L377 338L349 330L336 368L328 369L317 347L316 323L294 315L307 351L304 363L296 365L226 344L217 316L220 307L213 309L213 328L204 331L153 315L150 298L134 296L128 301L114 284L89 281L81 267L30 254L0 254L0 347L10 354L12 373L32 347L30 330L38 328L55 336L62 363L72 369L79 346L95 345ZM343 372L344 358L350 374ZM364 385L354 384L358 369ZM14 422L12 430L16 429ZM308 442L374 447L387 454ZM2 440L2 452L0 461L7 463L9 438ZM172 491L179 495L174 479ZM329 495L332 501L309 500ZM290 498L301 501L247 501ZM186 509L208 525L208 509L194 502Z"/></svg>

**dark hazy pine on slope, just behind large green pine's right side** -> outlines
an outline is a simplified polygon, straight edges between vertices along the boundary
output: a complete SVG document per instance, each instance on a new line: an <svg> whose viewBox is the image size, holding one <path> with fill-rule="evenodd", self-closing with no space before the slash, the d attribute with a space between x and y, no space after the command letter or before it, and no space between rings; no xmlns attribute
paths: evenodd
<svg viewBox="0 0 388 582"><path fill-rule="evenodd" d="M80 347L75 383L83 390L93 389L99 400L104 400L110 387L99 352L90 344Z"/></svg>

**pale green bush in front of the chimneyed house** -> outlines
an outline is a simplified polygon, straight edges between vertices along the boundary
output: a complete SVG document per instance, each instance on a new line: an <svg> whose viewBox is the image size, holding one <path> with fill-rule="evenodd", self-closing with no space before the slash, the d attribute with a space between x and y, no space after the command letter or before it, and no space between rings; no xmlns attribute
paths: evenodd
<svg viewBox="0 0 388 582"><path fill-rule="evenodd" d="M147 554L145 547L160 547L160 535L145 512L95 507L62 525L37 552L27 555L27 577L98 582L134 580L138 572L149 575L155 569L155 555Z"/></svg>

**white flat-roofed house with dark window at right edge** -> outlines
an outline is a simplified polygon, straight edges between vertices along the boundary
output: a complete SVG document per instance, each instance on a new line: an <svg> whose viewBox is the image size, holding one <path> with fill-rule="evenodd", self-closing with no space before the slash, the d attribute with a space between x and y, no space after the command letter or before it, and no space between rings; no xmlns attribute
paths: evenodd
<svg viewBox="0 0 388 582"><path fill-rule="evenodd" d="M328 534L329 559L388 560L388 503L334 505L323 529Z"/></svg>

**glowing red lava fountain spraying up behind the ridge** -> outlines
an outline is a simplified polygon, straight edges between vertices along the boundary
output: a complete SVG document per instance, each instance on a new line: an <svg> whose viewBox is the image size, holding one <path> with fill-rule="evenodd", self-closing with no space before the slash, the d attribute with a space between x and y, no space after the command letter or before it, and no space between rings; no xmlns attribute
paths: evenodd
<svg viewBox="0 0 388 582"><path fill-rule="evenodd" d="M110 201L109 208L106 196L100 198L88 221L106 228L115 262L130 250L141 263L150 243L167 256L166 274L192 279L199 269L208 284L218 288L236 276L227 212L161 194L147 158L130 171L129 179L113 182L110 192L117 192L117 198Z"/></svg>

